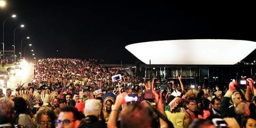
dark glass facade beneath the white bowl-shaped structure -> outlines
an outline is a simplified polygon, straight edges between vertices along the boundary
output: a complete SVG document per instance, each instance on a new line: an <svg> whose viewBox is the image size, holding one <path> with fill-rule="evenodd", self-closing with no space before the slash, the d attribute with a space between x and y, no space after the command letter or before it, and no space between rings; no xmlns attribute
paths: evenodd
<svg viewBox="0 0 256 128"><path fill-rule="evenodd" d="M232 79L239 79L241 76L251 77L256 73L255 65L150 65L145 66L145 73L141 77L150 78L154 73L156 78L162 82L178 81L177 76L182 75L185 85L209 85L225 86Z"/></svg>

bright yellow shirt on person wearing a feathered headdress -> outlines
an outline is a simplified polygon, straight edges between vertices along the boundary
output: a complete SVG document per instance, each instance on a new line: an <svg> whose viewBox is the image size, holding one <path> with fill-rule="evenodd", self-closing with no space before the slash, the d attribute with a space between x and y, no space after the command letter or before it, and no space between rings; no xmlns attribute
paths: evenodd
<svg viewBox="0 0 256 128"><path fill-rule="evenodd" d="M173 123L175 128L184 128L184 116L182 112L171 113L170 111L165 111L168 120Z"/></svg>

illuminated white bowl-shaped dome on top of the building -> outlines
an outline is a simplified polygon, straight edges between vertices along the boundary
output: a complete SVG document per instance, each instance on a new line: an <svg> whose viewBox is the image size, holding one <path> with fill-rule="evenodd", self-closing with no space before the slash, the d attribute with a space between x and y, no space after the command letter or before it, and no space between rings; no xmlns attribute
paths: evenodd
<svg viewBox="0 0 256 128"><path fill-rule="evenodd" d="M125 46L145 64L236 64L256 48L245 40L166 40Z"/></svg>

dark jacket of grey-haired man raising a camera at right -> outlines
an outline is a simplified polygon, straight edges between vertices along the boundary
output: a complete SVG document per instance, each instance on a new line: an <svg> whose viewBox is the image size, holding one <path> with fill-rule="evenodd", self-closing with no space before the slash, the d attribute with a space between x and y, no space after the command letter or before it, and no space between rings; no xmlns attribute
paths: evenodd
<svg viewBox="0 0 256 128"><path fill-rule="evenodd" d="M237 115L235 113L235 106L230 106L229 101L231 98L223 97L221 101L221 106L219 107L219 111L221 112L222 117L234 117Z"/></svg>

